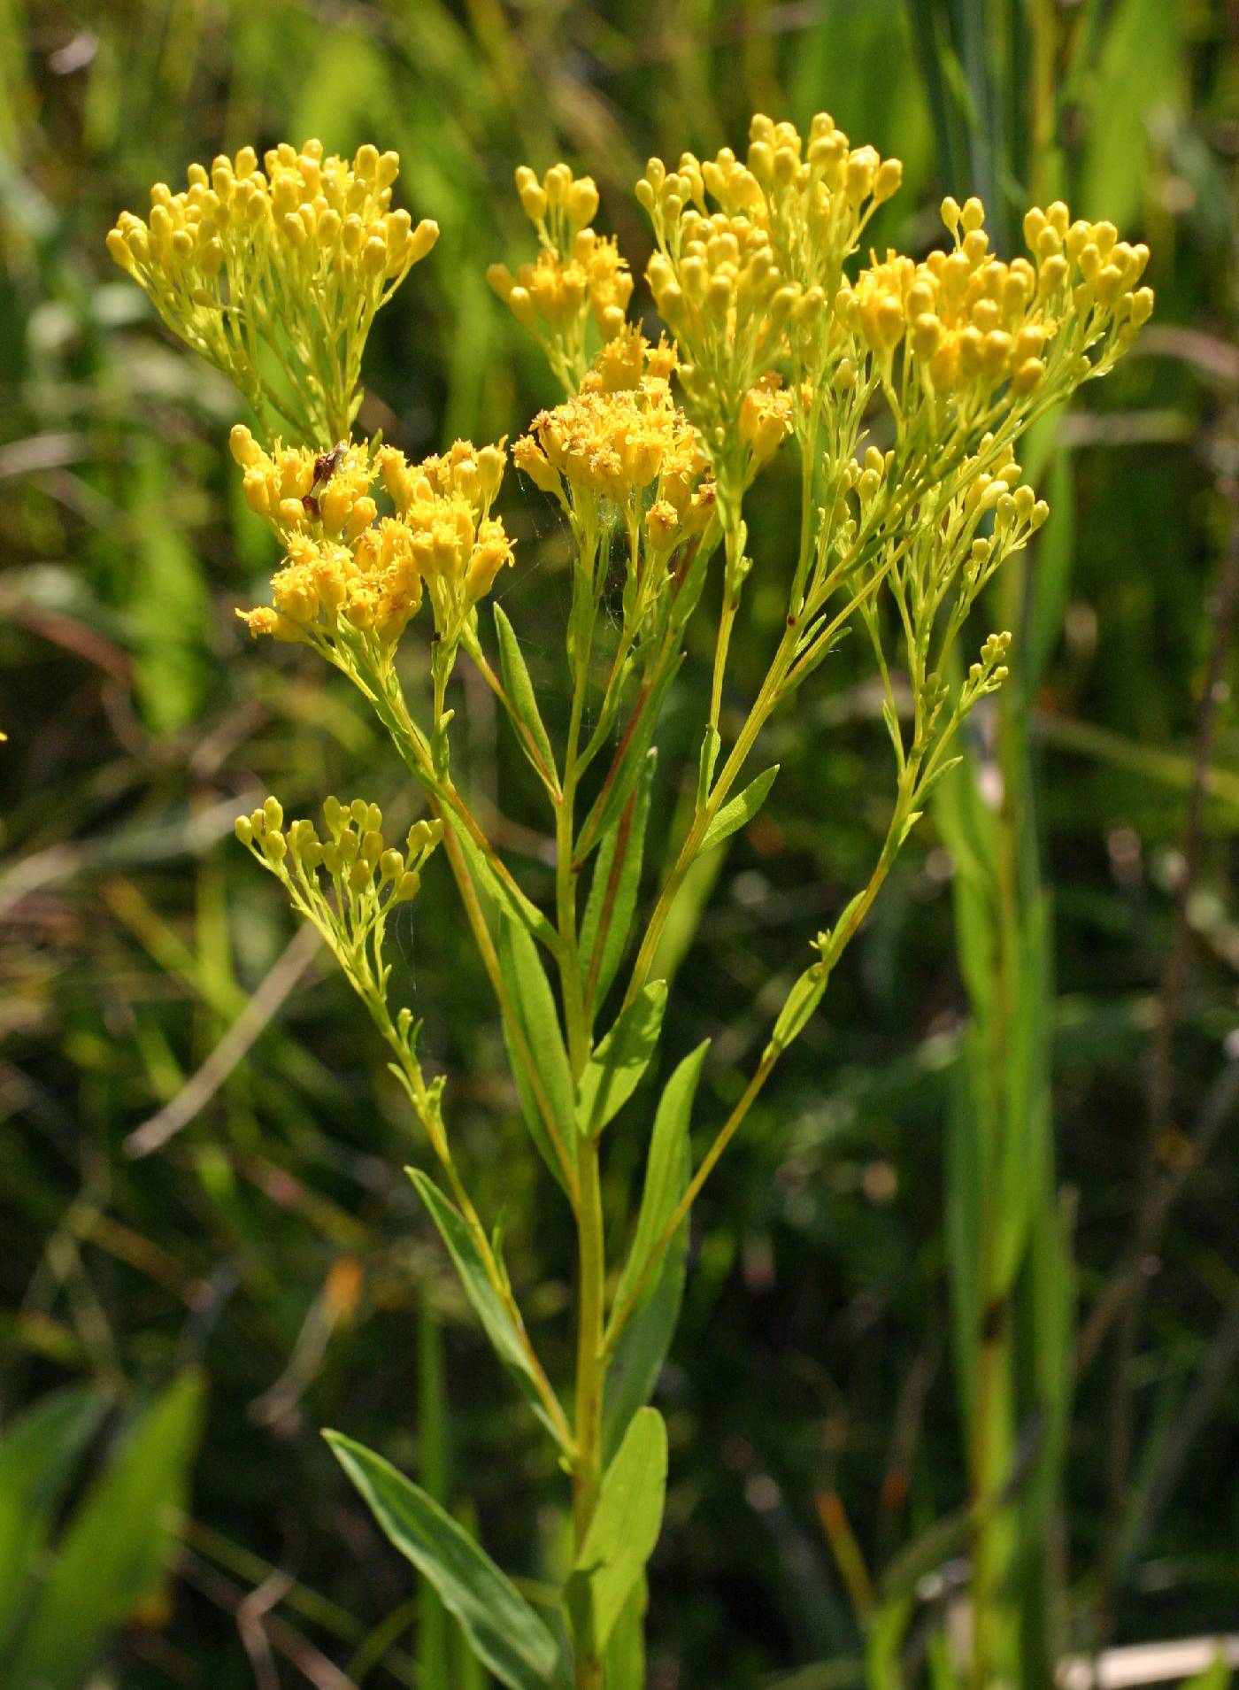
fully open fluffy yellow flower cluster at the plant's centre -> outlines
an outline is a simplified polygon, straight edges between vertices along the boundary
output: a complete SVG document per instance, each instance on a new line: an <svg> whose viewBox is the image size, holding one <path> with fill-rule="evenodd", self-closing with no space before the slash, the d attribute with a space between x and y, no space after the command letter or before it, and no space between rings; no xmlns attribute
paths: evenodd
<svg viewBox="0 0 1239 1690"><path fill-rule="evenodd" d="M647 350L656 367L666 350ZM707 460L696 429L674 404L666 375L646 373L630 387L605 387L605 375L575 399L539 412L512 448L512 461L544 492L634 509L647 488L651 536L659 548L698 534L713 514L713 487L701 482Z"/></svg>

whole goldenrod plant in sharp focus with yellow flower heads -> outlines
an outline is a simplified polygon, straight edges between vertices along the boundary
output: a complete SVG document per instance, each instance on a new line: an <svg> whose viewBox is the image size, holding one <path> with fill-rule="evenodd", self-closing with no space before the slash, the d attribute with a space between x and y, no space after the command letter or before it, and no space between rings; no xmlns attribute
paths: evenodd
<svg viewBox="0 0 1239 1690"><path fill-rule="evenodd" d="M651 159L637 183L654 235L647 265L666 333L629 316L632 279L593 228L588 177L517 171L538 238L490 281L543 346L565 399L510 451L456 441L409 463L353 439L357 372L375 309L433 240L389 210L392 154L352 166L279 147L194 167L189 193L152 193L110 238L164 321L252 401L232 451L245 499L282 559L259 637L306 646L368 701L416 782L424 818L402 847L377 804L328 798L321 828L276 798L238 818L243 845L284 886L363 999L439 1178L412 1181L465 1293L553 1442L571 1486L571 1563L539 1614L438 1502L380 1455L328 1433L379 1523L438 1589L478 1660L516 1690L639 1690L646 1565L661 1529L666 1430L649 1404L685 1276L701 1191L788 1046L816 1012L926 799L955 762L957 730L1006 678L1009 635L974 629L1002 563L1046 517L1023 480L1019 436L1107 373L1153 308L1148 252L1065 204L1024 221L1028 257L991 252L979 199L943 203L947 245L925 259L857 259L901 166L854 147L830 117L808 137L756 117L740 159ZM220 282L225 277L225 282ZM297 350L297 348L304 348ZM269 387L269 358L287 392ZM294 429L270 438L272 411ZM786 613L766 674L732 732L729 652L752 571L749 492L778 453L798 468L798 548L778 564ZM551 735L517 630L483 600L519 568L495 514L507 458L551 499L571 539L563 733ZM776 568L762 564L762 573ZM614 583L619 588L619 613ZM710 708L695 793L669 867L644 872L659 722L691 619L713 619ZM886 838L867 880L774 1017L730 1114L693 1102L707 1046L652 1092L668 985L659 943L693 865L761 810L778 767L754 772L771 717L855 632L872 656L891 740ZM473 664L505 711L544 794L554 899L541 908L456 786L456 669ZM428 679L409 703L404 679ZM556 711L556 720L558 720ZM390 1002L387 916L429 879L455 882L494 989L532 1142L575 1227L576 1369L551 1379L509 1281L495 1217L470 1198L453 1149L451 1095L423 1068L418 1022ZM609 1237L600 1158L636 1134L644 1185ZM614 1229L612 1229L614 1234Z"/></svg>

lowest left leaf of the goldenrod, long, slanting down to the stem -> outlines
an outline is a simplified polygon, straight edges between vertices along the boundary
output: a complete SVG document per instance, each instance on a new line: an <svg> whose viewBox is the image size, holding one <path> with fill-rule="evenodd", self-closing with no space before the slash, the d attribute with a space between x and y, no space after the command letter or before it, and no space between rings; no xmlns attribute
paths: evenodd
<svg viewBox="0 0 1239 1690"><path fill-rule="evenodd" d="M470 1648L509 1690L556 1683L554 1638L510 1578L433 1497L390 1462L340 1431L325 1431L331 1453L353 1480L396 1548L439 1592Z"/></svg>

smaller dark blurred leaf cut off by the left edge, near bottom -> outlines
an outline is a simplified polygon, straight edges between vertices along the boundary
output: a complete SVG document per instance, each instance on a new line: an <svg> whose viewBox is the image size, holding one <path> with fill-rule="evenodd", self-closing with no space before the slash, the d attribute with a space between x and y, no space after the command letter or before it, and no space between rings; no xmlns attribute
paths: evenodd
<svg viewBox="0 0 1239 1690"><path fill-rule="evenodd" d="M103 1409L98 1393L73 1386L42 1398L5 1428L0 1442L0 1651L56 1504Z"/></svg>

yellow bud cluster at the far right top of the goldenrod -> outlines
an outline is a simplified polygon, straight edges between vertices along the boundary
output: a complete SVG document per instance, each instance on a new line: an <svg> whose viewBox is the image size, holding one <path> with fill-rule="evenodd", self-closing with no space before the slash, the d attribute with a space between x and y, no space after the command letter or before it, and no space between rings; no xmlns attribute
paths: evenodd
<svg viewBox="0 0 1239 1690"><path fill-rule="evenodd" d="M1153 311L1153 291L1138 287L1148 247L1121 242L1112 223L1072 223L1062 201L1024 218L1031 260L991 254L979 199L943 201L943 221L952 252L923 264L889 252L838 294L840 321L887 382L906 341L911 397L920 385L930 401L984 406L1004 384L1016 399L1048 379L1073 387L1109 368Z"/></svg>

